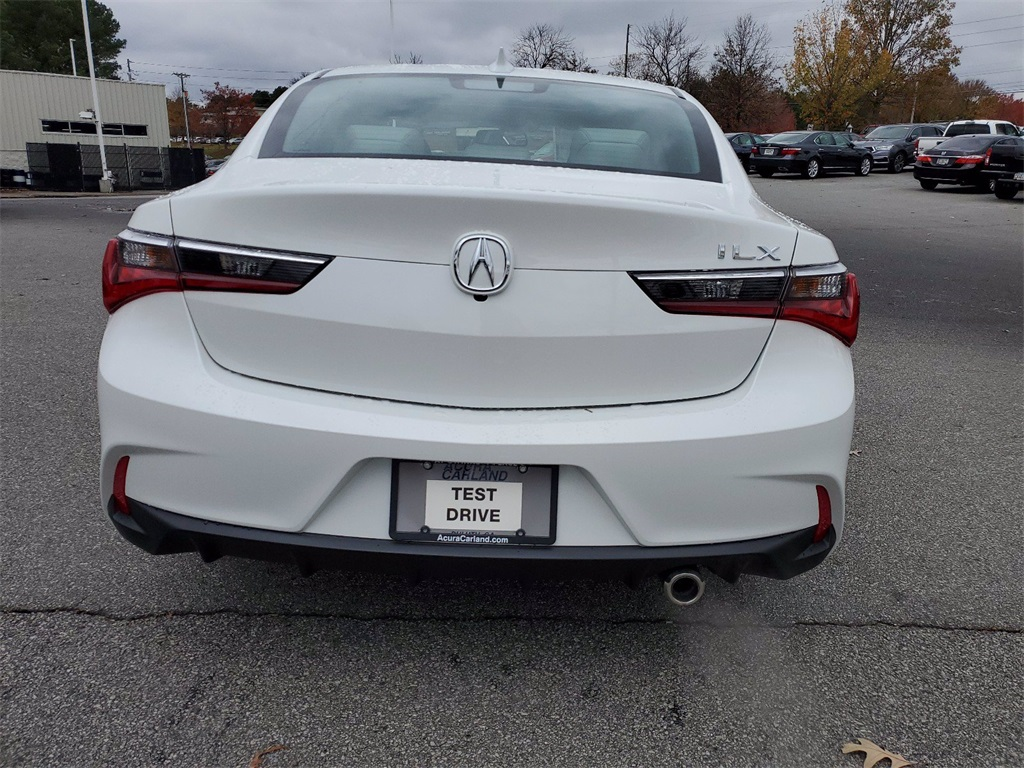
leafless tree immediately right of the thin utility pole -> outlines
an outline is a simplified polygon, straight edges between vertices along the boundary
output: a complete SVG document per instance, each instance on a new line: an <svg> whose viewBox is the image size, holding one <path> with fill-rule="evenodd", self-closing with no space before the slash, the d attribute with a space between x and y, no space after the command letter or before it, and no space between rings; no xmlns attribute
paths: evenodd
<svg viewBox="0 0 1024 768"><path fill-rule="evenodd" d="M630 55L630 74L641 80L690 90L700 83L703 45L695 35L686 34L686 19L670 13L656 24L641 27L635 38L640 66L634 70Z"/></svg>

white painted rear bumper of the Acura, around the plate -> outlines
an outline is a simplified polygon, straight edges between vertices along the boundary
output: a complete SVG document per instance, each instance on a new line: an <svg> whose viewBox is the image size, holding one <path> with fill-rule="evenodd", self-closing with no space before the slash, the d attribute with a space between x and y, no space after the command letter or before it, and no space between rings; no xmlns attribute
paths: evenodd
<svg viewBox="0 0 1024 768"><path fill-rule="evenodd" d="M181 297L156 294L112 316L98 399L102 503L127 456L127 496L202 530L419 553L389 531L392 459L407 459L559 467L554 546L570 558L580 548L667 552L804 530L818 519L817 485L843 532L853 369L840 341L802 323L776 323L748 379L723 395L469 411L232 374L206 354Z"/></svg>

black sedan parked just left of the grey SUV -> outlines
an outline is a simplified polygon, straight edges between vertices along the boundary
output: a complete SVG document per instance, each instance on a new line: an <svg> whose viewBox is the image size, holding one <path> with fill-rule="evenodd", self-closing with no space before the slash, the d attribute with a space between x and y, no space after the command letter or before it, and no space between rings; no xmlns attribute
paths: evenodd
<svg viewBox="0 0 1024 768"><path fill-rule="evenodd" d="M799 173L817 178L822 173L852 171L866 176L871 171L871 154L834 131L788 131L753 147L751 167L769 178L776 173Z"/></svg>

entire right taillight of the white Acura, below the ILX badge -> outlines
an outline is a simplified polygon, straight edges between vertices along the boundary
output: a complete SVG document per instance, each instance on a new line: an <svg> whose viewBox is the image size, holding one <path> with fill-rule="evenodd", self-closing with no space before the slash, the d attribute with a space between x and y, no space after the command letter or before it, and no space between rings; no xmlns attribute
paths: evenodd
<svg viewBox="0 0 1024 768"><path fill-rule="evenodd" d="M860 291L857 279L840 263L631 276L667 312L797 321L830 333L847 346L857 338Z"/></svg>

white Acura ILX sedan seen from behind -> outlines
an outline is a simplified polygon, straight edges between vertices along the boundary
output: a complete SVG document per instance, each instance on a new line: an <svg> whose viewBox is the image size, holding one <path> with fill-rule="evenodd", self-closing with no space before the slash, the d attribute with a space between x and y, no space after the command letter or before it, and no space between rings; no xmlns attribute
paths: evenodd
<svg viewBox="0 0 1024 768"><path fill-rule="evenodd" d="M102 502L156 554L690 604L842 535L856 281L678 89L317 73L138 208L103 298Z"/></svg>

